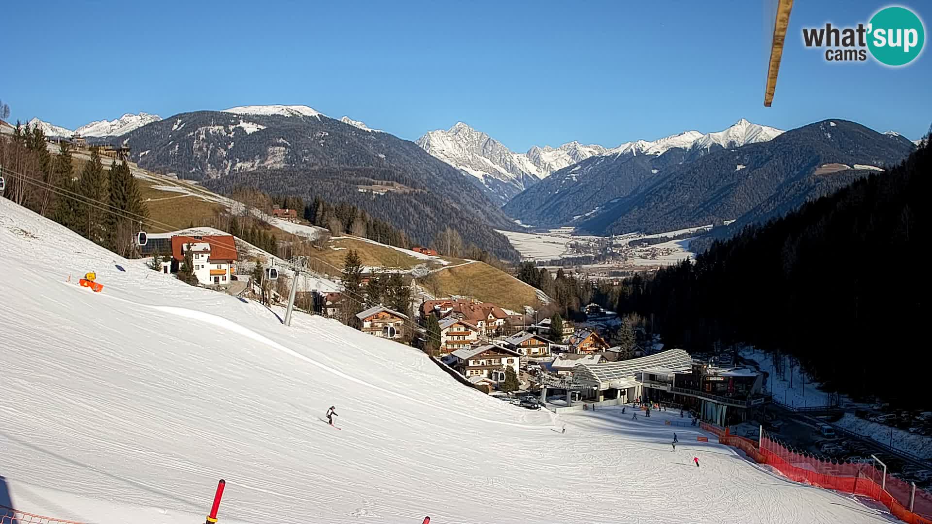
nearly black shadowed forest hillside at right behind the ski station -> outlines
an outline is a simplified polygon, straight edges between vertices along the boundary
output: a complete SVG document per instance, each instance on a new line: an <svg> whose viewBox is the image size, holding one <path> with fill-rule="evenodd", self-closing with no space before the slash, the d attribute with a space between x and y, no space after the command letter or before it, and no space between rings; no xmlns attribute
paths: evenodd
<svg viewBox="0 0 932 524"><path fill-rule="evenodd" d="M901 165L744 228L697 257L638 283L620 310L653 315L687 351L746 342L800 359L829 388L925 400L925 385L878 388L878 369L932 365L928 296L918 263L928 235L928 145ZM896 374L896 371L894 371Z"/></svg>

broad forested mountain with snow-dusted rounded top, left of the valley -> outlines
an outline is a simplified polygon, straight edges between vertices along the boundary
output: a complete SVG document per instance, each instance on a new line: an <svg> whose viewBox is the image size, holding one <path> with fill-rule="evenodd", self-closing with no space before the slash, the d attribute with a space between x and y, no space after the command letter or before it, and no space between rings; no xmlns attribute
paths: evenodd
<svg viewBox="0 0 932 524"><path fill-rule="evenodd" d="M305 200L352 204L428 243L449 225L464 240L505 259L511 244L494 228L513 228L462 174L413 142L304 113L183 113L119 137L139 165L230 191L252 186Z"/></svg>

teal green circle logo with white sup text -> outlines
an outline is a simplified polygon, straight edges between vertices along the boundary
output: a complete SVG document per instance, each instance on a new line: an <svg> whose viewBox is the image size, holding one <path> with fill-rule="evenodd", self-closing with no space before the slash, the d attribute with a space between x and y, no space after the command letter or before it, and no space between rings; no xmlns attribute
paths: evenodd
<svg viewBox="0 0 932 524"><path fill-rule="evenodd" d="M884 7L870 19L868 27L868 48L878 62L906 65L923 50L923 21L906 7Z"/></svg>

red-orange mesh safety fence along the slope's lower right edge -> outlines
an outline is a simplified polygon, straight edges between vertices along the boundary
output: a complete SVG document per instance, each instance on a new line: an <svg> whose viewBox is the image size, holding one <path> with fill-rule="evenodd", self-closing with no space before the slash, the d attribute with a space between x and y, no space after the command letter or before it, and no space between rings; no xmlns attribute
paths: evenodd
<svg viewBox="0 0 932 524"><path fill-rule="evenodd" d="M869 497L883 503L890 513L909 524L932 524L932 494L915 490L912 511L912 486L896 476L886 475L870 462L837 462L787 448L766 433L761 442L729 434L725 428L702 422L699 426L719 437L719 443L741 449L755 462L773 467L790 480L805 482L826 490L843 491Z"/></svg>

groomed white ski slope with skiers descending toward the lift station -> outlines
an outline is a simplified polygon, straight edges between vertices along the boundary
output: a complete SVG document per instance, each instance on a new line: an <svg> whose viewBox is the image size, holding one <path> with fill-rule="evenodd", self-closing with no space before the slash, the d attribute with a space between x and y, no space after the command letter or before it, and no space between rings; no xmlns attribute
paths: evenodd
<svg viewBox="0 0 932 524"><path fill-rule="evenodd" d="M228 524L886 521L673 413L510 406L417 350L304 314L285 327L4 199L0 267L0 489L24 511L199 522L223 477ZM102 293L75 285L89 270Z"/></svg>

